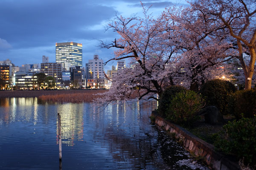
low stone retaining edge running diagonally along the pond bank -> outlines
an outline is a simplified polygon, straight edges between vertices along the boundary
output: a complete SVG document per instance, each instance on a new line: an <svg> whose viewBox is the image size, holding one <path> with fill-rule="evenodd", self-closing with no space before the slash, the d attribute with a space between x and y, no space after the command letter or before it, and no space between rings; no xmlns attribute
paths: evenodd
<svg viewBox="0 0 256 170"><path fill-rule="evenodd" d="M151 113L151 117L154 118L154 122L158 126L169 133L175 134L175 138L183 144L186 150L194 153L196 156L204 157L206 163L214 170L240 170L238 162L226 159L224 155L215 151L215 147L212 144L199 139L183 127L164 120L161 116L157 115L156 111Z"/></svg>

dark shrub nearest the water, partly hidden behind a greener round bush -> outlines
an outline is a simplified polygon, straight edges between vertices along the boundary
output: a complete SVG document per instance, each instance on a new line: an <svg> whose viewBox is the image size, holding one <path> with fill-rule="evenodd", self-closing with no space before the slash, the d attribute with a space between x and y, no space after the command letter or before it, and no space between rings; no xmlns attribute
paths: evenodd
<svg viewBox="0 0 256 170"><path fill-rule="evenodd" d="M167 114L169 113L167 108L170 102L172 101L173 96L175 96L175 94L181 91L186 91L186 88L177 85L167 87L163 91L162 96L160 96L160 102L157 109L157 113L166 118Z"/></svg>

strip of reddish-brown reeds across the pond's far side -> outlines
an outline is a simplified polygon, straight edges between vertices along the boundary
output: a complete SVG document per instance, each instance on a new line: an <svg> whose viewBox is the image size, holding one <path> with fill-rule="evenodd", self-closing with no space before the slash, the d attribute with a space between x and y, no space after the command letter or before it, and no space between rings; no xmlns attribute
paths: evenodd
<svg viewBox="0 0 256 170"><path fill-rule="evenodd" d="M94 95L108 90L41 90L41 91L0 91L0 98L7 97L38 97L43 101L52 102L91 102L99 97Z"/></svg>

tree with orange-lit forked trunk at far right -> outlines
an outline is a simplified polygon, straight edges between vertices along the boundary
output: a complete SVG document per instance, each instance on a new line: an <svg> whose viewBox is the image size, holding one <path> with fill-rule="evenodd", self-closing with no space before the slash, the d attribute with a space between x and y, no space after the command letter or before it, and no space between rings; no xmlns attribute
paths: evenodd
<svg viewBox="0 0 256 170"><path fill-rule="evenodd" d="M203 11L236 40L239 61L244 71L245 89L250 89L256 60L256 1L255 0L195 0L193 10ZM248 63L244 54L250 56Z"/></svg>

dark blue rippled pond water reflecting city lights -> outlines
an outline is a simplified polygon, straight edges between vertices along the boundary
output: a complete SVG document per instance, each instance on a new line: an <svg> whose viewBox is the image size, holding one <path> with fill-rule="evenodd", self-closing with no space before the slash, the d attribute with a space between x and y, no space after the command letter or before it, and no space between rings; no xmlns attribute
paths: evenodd
<svg viewBox="0 0 256 170"><path fill-rule="evenodd" d="M157 103L108 105L0 99L0 170L207 170L150 123Z"/></svg>

